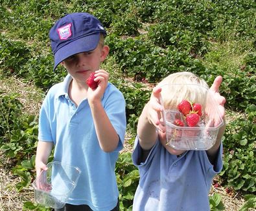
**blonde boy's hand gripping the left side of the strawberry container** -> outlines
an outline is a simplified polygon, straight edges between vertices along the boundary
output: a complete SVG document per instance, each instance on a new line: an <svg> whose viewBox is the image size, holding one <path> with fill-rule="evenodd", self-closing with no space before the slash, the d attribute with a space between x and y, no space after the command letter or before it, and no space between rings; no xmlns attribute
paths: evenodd
<svg viewBox="0 0 256 211"><path fill-rule="evenodd" d="M157 129L165 132L165 123L163 118L161 117L161 112L163 111L163 106L160 103L161 99L161 88L154 87L152 90L152 94L150 97L150 101L148 101L148 121L156 126Z"/></svg>

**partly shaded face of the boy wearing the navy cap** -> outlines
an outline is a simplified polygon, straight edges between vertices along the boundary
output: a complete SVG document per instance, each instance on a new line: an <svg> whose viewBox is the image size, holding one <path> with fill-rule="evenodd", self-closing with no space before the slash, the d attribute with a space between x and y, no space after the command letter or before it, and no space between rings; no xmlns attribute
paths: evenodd
<svg viewBox="0 0 256 211"><path fill-rule="evenodd" d="M62 65L65 66L73 79L84 82L91 72L99 70L100 63L106 59L108 52L108 46L104 45L102 47L98 45L97 48L91 52L82 52L68 57L62 61Z"/></svg>

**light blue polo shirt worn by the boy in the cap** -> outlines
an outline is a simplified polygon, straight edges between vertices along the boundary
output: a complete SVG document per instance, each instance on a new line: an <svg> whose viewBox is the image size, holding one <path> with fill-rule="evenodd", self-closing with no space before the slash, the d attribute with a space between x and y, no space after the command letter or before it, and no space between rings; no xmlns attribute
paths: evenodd
<svg viewBox="0 0 256 211"><path fill-rule="evenodd" d="M122 149L126 131L125 101L122 93L108 83L102 105L119 135L113 152L100 146L87 99L76 108L68 95L71 75L49 90L40 110L40 141L54 144L54 161L78 166L81 175L67 203L89 205L93 210L109 211L117 205L119 191L115 163Z"/></svg>

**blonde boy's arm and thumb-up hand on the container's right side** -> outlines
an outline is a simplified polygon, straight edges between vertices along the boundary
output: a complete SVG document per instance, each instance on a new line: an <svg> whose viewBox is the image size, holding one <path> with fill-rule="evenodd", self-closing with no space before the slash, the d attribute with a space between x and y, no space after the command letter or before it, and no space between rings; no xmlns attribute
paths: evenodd
<svg viewBox="0 0 256 211"><path fill-rule="evenodd" d="M207 150L207 156L209 158L209 161L212 164L215 163L216 154L218 152L218 148L220 147L221 139L222 139L222 136L223 136L225 128L226 128L225 118L224 118L224 116L225 116L224 104L226 103L226 99L225 99L225 97L220 95L218 92L218 89L219 89L221 83L222 83L222 77L217 76L215 81L213 82L213 85L210 88L211 92L213 92L213 94L214 94L216 102L218 103L217 108L218 108L218 111L220 112L220 116L224 120L224 125L221 126L220 129L218 130L218 136L216 138L215 145L213 145L212 148ZM218 125L218 122L216 122L216 125Z"/></svg>

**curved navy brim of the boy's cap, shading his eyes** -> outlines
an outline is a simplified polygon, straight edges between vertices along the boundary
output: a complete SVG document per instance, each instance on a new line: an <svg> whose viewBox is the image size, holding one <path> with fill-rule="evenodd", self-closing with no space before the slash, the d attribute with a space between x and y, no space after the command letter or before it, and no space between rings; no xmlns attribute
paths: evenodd
<svg viewBox="0 0 256 211"><path fill-rule="evenodd" d="M55 54L54 54L54 68L53 71L56 69L56 67L67 57L70 57L74 54L79 54L82 52L89 52L91 50L94 50L100 40L100 33L97 34L91 34L87 35L86 37L81 37L79 39L76 39L75 41L72 41L71 43L68 43L67 45L60 48Z"/></svg>

